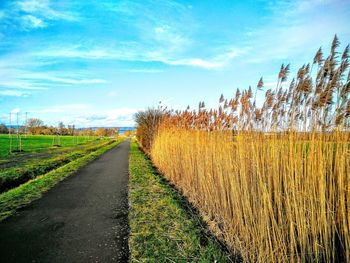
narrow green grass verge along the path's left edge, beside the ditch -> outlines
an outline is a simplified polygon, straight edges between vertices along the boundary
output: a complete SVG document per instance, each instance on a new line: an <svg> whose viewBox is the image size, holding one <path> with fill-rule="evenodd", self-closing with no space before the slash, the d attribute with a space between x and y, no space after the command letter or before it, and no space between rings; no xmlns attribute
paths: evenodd
<svg viewBox="0 0 350 263"><path fill-rule="evenodd" d="M0 195L0 221L12 215L17 209L24 207L30 202L41 197L41 195L52 188L64 178L72 175L79 168L96 159L106 151L115 147L120 141L104 146L84 157L76 159L56 170L38 176L17 188L11 189Z"/></svg>

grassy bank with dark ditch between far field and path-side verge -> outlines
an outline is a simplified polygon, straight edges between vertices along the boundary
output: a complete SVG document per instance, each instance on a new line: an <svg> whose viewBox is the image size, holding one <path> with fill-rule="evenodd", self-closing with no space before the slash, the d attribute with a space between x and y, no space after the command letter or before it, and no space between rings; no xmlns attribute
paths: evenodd
<svg viewBox="0 0 350 263"><path fill-rule="evenodd" d="M0 169L0 193L83 157L112 142L113 141L101 141L93 146L87 144L85 147L69 153L63 153L46 159L31 159L23 164Z"/></svg>

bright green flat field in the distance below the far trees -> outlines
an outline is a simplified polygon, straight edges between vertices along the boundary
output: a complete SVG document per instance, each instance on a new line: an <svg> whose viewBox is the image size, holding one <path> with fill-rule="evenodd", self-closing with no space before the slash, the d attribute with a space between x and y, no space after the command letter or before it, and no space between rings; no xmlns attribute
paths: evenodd
<svg viewBox="0 0 350 263"><path fill-rule="evenodd" d="M24 152L37 152L47 150L53 147L54 136L52 135L28 135L21 136L22 149ZM62 147L74 147L77 144L83 144L91 140L95 140L96 137L88 136L61 136ZM17 149L16 136L12 135L12 149ZM8 134L0 134L0 158L8 156L10 153L10 138Z"/></svg>

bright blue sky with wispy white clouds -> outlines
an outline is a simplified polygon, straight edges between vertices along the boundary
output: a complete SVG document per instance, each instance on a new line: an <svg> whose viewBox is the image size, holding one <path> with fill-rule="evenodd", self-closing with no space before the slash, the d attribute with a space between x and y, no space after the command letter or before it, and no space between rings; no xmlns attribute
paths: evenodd
<svg viewBox="0 0 350 263"><path fill-rule="evenodd" d="M350 43L350 0L0 0L0 123L133 126Z"/></svg>

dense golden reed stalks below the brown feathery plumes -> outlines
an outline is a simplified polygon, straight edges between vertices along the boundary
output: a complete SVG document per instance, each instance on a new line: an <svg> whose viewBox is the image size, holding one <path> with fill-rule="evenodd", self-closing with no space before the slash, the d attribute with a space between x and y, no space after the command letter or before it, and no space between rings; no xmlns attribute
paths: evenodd
<svg viewBox="0 0 350 263"><path fill-rule="evenodd" d="M244 259L335 262L350 259L348 141L173 128L152 158Z"/></svg>

